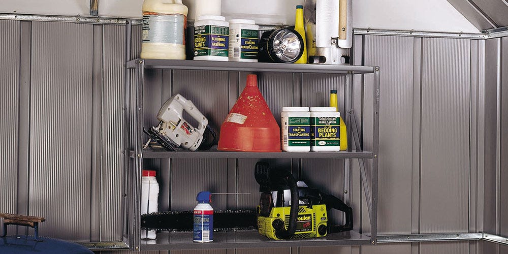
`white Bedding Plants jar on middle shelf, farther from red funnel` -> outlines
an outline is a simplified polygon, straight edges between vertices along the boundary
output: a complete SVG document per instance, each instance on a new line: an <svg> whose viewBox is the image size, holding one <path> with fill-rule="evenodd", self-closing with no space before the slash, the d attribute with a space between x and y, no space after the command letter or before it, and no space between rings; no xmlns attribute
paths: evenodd
<svg viewBox="0 0 508 254"><path fill-rule="evenodd" d="M310 108L310 138L313 152L340 151L340 112L335 107Z"/></svg>

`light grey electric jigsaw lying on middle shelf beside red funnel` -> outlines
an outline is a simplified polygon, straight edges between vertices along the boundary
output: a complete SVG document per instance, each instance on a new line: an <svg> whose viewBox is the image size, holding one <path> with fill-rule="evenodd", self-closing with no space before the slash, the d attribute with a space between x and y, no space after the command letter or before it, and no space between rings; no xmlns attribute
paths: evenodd
<svg viewBox="0 0 508 254"><path fill-rule="evenodd" d="M183 119L183 111L198 122L198 128L194 128ZM157 113L157 119L160 121L157 126L152 126L148 130L143 128L143 132L150 136L144 148L151 144L152 140L172 151L177 151L179 148L191 151L198 148L206 150L215 142L216 135L208 125L208 119L191 101L183 98L179 93L164 103Z"/></svg>

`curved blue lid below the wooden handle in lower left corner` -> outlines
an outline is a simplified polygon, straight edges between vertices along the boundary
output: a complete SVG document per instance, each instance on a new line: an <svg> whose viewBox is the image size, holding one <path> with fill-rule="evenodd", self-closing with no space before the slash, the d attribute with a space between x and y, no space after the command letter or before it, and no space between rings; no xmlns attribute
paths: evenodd
<svg viewBox="0 0 508 254"><path fill-rule="evenodd" d="M39 237L37 242L34 236L7 236L0 238L0 253L93 253L86 247L77 243L66 242L48 237Z"/></svg>

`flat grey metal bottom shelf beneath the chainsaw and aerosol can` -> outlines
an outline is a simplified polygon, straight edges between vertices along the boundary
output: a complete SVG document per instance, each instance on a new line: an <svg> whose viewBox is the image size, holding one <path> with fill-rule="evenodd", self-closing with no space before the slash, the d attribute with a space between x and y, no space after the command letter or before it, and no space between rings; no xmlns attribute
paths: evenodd
<svg viewBox="0 0 508 254"><path fill-rule="evenodd" d="M160 232L156 240L141 240L141 250L167 249L224 249L257 247L300 247L366 245L370 237L355 231L329 234L326 237L303 240L271 240L258 234L258 231L243 230L233 232L214 232L213 242L196 243L192 241L192 232Z"/></svg>

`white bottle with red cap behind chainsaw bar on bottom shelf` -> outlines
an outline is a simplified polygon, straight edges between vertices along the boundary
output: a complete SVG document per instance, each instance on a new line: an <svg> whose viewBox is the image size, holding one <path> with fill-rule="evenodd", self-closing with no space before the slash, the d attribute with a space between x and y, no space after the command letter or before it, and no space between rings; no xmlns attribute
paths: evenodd
<svg viewBox="0 0 508 254"><path fill-rule="evenodd" d="M141 177L141 214L158 211L158 192L159 187L155 179L155 171L143 170ZM141 239L155 239L156 234L153 230L141 230Z"/></svg>

